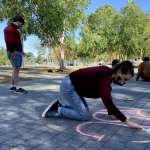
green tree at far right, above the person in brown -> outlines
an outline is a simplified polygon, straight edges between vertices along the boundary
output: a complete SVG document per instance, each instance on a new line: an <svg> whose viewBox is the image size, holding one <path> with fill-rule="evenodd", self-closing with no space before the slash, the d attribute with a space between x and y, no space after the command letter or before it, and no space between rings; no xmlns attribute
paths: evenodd
<svg viewBox="0 0 150 150"><path fill-rule="evenodd" d="M122 20L120 26L120 53L127 58L143 57L144 51L149 49L150 39L147 29L150 18L134 2L130 2L121 10ZM148 47L146 48L145 45Z"/></svg>

